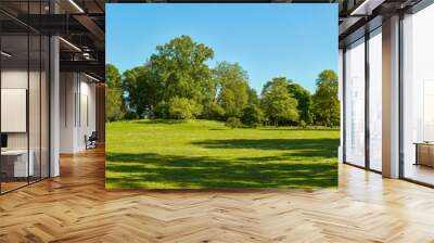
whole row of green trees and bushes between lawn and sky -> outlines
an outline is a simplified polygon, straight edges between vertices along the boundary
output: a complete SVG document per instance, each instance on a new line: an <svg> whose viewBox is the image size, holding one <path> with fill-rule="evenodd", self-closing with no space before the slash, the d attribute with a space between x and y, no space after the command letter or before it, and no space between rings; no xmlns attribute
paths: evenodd
<svg viewBox="0 0 434 243"><path fill-rule="evenodd" d="M238 63L207 62L214 50L180 36L157 46L144 65L119 74L106 65L107 120L215 119L246 126L339 126L337 76L319 74L314 94L286 77L268 80L260 94Z"/></svg>

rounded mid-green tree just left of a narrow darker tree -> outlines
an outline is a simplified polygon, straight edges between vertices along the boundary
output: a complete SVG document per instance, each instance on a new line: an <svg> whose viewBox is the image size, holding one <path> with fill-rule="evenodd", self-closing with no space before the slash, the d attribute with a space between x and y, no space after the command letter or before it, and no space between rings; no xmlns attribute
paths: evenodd
<svg viewBox="0 0 434 243"><path fill-rule="evenodd" d="M297 100L289 92L289 80L284 77L268 81L261 92L261 107L266 117L276 126L298 120Z"/></svg>

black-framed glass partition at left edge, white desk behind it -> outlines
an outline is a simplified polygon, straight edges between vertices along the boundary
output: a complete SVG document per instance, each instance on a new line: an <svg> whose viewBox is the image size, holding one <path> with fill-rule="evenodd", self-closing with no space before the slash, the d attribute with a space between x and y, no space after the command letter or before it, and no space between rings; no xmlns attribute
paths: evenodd
<svg viewBox="0 0 434 243"><path fill-rule="evenodd" d="M44 14L44 4L21 2L20 14ZM0 22L8 23L0 23L0 193L5 193L49 177L50 43L13 17L0 13Z"/></svg>

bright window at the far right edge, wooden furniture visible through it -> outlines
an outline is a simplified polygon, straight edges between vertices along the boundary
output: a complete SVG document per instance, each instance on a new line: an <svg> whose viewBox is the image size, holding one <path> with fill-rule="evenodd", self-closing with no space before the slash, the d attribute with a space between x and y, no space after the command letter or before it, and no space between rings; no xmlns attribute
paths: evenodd
<svg viewBox="0 0 434 243"><path fill-rule="evenodd" d="M403 21L404 177L434 184L434 4Z"/></svg>

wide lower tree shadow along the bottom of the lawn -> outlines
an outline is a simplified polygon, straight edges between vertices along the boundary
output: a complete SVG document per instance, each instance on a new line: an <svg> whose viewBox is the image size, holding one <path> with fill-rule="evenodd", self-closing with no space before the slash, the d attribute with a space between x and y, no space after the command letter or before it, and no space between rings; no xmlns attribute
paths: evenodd
<svg viewBox="0 0 434 243"><path fill-rule="evenodd" d="M288 155L222 159L107 153L106 183L110 188L143 189L310 189L337 186L336 163L294 163L288 158Z"/></svg>

